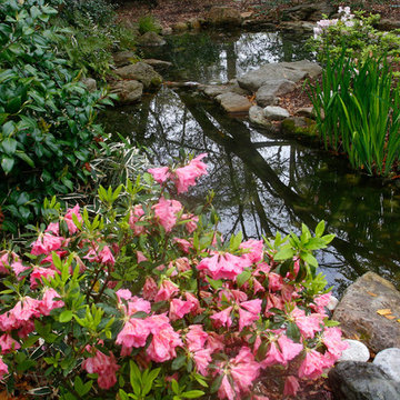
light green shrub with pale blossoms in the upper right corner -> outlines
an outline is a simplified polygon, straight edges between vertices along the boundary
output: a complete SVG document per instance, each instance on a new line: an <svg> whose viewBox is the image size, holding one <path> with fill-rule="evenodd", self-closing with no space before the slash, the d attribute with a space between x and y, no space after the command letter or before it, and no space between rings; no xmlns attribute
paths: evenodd
<svg viewBox="0 0 400 400"><path fill-rule="evenodd" d="M308 41L308 46L317 52L319 61L326 63L338 60L343 49L347 57L358 60L364 60L371 53L377 57L382 54L400 57L399 30L382 32L374 29L380 19L379 14L366 17L362 11L354 11L354 14L350 16L352 16L351 19L342 17L336 23L336 20L318 22L314 29L316 34ZM331 24L327 27L328 21Z"/></svg>

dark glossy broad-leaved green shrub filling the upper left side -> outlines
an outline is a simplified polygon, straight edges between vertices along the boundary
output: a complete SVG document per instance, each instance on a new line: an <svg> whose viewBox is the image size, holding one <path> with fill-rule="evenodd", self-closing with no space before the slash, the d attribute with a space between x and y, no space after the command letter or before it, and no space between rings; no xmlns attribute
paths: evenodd
<svg viewBox="0 0 400 400"><path fill-rule="evenodd" d="M84 168L103 136L94 123L106 92L89 93L78 71L57 57L62 32L49 26L57 10L43 0L0 4L0 204L4 230L10 217L27 222L42 198L84 183Z"/></svg>

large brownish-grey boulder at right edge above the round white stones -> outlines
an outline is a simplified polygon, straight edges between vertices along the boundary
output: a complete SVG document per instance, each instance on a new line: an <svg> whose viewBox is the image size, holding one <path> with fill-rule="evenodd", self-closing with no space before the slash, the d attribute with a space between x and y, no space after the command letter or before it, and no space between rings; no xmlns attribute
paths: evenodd
<svg viewBox="0 0 400 400"><path fill-rule="evenodd" d="M333 312L346 338L358 336L369 349L378 353L387 348L400 347L400 323L377 311L390 309L400 316L400 292L388 280L367 272L343 293Z"/></svg>

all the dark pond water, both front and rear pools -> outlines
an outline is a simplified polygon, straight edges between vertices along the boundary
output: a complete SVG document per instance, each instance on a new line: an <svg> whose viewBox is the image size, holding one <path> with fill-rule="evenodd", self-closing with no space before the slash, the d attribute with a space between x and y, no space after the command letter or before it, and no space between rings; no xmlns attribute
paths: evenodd
<svg viewBox="0 0 400 400"><path fill-rule="evenodd" d="M149 56L149 54L146 54ZM217 82L266 62L312 58L303 41L281 33L186 34L170 38L154 58L171 60L166 80ZM246 238L299 232L320 220L337 238L317 254L328 282L340 293L368 270L400 280L400 190L353 173L346 160L301 142L257 130L227 116L193 91L162 87L138 106L108 110L102 120L166 164L180 148L209 154L209 174L191 202L216 192L221 230Z"/></svg>

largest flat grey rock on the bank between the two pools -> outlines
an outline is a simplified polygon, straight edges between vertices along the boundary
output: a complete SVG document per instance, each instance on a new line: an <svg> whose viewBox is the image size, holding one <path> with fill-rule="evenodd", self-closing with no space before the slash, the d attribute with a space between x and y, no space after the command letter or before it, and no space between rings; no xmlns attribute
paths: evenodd
<svg viewBox="0 0 400 400"><path fill-rule="evenodd" d="M322 68L311 61L278 62L262 66L258 70L249 71L238 78L239 86L243 89L258 91L271 81L289 80L297 83L306 77L316 78Z"/></svg>

